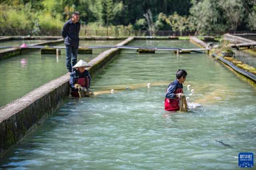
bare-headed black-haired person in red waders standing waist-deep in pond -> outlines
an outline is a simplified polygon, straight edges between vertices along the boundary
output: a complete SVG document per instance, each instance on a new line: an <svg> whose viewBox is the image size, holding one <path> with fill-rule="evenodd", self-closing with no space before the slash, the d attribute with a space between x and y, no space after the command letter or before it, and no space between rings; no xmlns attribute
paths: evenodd
<svg viewBox="0 0 256 170"><path fill-rule="evenodd" d="M164 101L166 111L178 111L180 109L180 98L184 96L182 83L186 81L186 77L187 72L179 69L176 72L176 80L168 85Z"/></svg>

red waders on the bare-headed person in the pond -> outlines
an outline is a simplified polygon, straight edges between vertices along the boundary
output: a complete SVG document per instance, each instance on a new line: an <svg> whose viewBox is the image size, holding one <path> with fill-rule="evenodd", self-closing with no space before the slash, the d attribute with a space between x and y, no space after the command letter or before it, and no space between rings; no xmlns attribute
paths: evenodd
<svg viewBox="0 0 256 170"><path fill-rule="evenodd" d="M183 93L182 88L178 88L174 91L174 94ZM175 97L174 99L167 99L164 100L164 109L166 111L178 111L180 110L180 99Z"/></svg>

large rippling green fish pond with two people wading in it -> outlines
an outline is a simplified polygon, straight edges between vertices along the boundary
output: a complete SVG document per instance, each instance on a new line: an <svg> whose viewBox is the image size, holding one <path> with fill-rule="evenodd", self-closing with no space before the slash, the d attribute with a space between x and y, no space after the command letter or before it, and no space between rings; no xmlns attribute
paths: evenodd
<svg viewBox="0 0 256 170"><path fill-rule="evenodd" d="M197 47L182 40L129 45ZM180 68L188 73L185 95L202 107L167 112L166 87ZM8 150L0 168L234 170L240 152L256 153L256 89L207 54L122 50L91 90L97 95L68 98Z"/></svg>

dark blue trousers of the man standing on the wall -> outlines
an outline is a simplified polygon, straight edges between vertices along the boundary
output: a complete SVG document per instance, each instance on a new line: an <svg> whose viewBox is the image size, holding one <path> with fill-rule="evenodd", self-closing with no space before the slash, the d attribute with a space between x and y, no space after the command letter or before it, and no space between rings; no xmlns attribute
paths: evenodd
<svg viewBox="0 0 256 170"><path fill-rule="evenodd" d="M66 45L66 66L69 72L77 61L78 46Z"/></svg>

